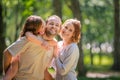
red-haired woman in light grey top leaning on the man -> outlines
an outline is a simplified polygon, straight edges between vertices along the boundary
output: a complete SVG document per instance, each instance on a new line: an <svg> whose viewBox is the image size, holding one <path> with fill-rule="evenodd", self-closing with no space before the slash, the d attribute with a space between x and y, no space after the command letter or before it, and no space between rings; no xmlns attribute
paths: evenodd
<svg viewBox="0 0 120 80"><path fill-rule="evenodd" d="M80 39L80 28L80 21L76 19L68 19L62 26L62 41L58 42L58 50L54 54L56 80L77 80L75 69L79 59L77 43Z"/></svg>

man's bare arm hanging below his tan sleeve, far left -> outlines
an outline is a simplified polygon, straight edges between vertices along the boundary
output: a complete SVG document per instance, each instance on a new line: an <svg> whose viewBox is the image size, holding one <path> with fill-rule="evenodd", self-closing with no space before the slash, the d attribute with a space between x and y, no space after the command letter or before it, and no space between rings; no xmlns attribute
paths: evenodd
<svg viewBox="0 0 120 80"><path fill-rule="evenodd" d="M11 60L12 60L12 55L10 54L10 52L7 49L5 49L5 51L3 52L3 71L4 71L4 73L6 73L7 70L9 69Z"/></svg>

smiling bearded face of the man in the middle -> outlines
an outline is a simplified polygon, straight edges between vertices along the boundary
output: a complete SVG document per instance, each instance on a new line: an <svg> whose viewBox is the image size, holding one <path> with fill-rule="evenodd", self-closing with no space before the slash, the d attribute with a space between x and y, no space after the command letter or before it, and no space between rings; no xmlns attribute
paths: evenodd
<svg viewBox="0 0 120 80"><path fill-rule="evenodd" d="M46 23L46 35L55 36L59 33L61 26L61 21L58 18L51 17Z"/></svg>

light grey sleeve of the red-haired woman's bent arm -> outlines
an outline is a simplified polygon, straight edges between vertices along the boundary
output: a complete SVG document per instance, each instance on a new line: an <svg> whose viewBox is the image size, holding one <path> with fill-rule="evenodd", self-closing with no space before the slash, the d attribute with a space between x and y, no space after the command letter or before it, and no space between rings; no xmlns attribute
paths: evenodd
<svg viewBox="0 0 120 80"><path fill-rule="evenodd" d="M57 57L55 59L56 68L59 74L66 75L70 69L72 69L72 66L75 65L76 59L79 56L79 50L77 46L72 45L66 52L63 54L66 54L64 57L65 59L61 61L60 57Z"/></svg>

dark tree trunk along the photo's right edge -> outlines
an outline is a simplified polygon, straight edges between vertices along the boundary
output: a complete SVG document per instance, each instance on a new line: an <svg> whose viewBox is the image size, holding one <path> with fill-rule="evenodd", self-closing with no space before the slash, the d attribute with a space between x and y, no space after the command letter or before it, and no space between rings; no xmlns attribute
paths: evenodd
<svg viewBox="0 0 120 80"><path fill-rule="evenodd" d="M114 2L114 63L113 70L120 71L120 0Z"/></svg>

